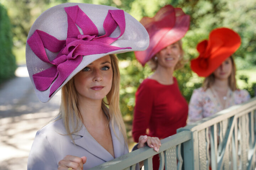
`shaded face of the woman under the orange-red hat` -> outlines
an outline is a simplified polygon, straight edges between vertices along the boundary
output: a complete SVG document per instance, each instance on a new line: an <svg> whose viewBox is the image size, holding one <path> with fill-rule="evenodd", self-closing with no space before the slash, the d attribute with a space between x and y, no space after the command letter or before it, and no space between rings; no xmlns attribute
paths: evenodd
<svg viewBox="0 0 256 170"><path fill-rule="evenodd" d="M227 58L214 72L214 77L220 80L228 79L232 72L231 58Z"/></svg>

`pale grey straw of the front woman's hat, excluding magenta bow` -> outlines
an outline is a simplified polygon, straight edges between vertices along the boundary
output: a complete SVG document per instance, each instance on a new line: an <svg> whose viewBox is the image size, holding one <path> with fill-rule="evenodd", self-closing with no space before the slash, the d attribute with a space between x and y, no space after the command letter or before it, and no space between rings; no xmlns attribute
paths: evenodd
<svg viewBox="0 0 256 170"><path fill-rule="evenodd" d="M98 29L99 36L105 34L105 30L103 29L103 22L108 13L108 10L118 10L118 8L105 6L105 5L94 5L94 4L82 4L82 3L65 3L49 8L44 11L34 22L33 26L28 33L28 38L34 33L35 30L41 30L46 32L59 40L66 40L67 38L67 15L64 10L64 7L75 6L78 5L79 8L91 19L91 21L95 24ZM149 45L149 35L146 32L146 29L140 24L134 17L124 12L126 28L121 37L119 37L116 41L114 41L111 45L116 47L131 47L132 49L122 49L111 51L108 53L101 53L95 55L87 55L83 57L81 63L78 67L74 69L74 71L66 78L66 80L62 83L61 86L49 97L50 94L50 86L45 91L39 91L36 89L34 85L34 81L32 78L33 74L41 72L42 70L46 70L52 67L51 64L43 62L40 60L34 52L31 50L30 46L26 43L26 63L28 73L30 75L30 79L32 81L34 90L36 92L37 97L41 102L48 102L50 98L56 94L59 89L63 87L76 73L80 72L84 67L93 61L101 58L103 56L109 54L116 53L124 53L128 51L139 51L145 50ZM78 27L79 28L79 27ZM79 28L80 29L80 28ZM81 32L81 31L80 31ZM117 37L120 34L120 29L117 27L116 30L110 35L110 37ZM46 54L50 61L52 61L57 53L51 52L47 49ZM53 83L52 83L53 84Z"/></svg>

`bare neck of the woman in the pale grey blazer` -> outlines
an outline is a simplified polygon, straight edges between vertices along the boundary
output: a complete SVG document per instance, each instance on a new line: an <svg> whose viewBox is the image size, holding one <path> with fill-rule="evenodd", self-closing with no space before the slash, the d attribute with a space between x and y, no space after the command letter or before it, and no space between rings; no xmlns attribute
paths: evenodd
<svg viewBox="0 0 256 170"><path fill-rule="evenodd" d="M106 119L106 115L101 108L102 100L79 99L78 103L78 108L85 126L96 125Z"/></svg>

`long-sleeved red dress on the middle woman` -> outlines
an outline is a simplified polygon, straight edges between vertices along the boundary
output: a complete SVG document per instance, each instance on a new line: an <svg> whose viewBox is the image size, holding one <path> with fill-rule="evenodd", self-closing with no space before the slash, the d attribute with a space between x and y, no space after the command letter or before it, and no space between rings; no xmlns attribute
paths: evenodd
<svg viewBox="0 0 256 170"><path fill-rule="evenodd" d="M145 79L135 94L133 116L133 139L138 142L140 135L160 139L176 134L186 126L188 104L181 95L177 80L174 84L163 85L153 79ZM146 134L149 129L149 134ZM159 158L153 158L153 169L158 169Z"/></svg>

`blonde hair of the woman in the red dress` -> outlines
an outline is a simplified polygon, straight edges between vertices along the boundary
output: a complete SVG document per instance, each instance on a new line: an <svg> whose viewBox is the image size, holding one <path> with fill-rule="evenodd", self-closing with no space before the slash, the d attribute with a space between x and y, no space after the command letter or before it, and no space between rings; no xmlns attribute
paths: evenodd
<svg viewBox="0 0 256 170"><path fill-rule="evenodd" d="M175 65L175 68L174 68L174 70L177 70L177 69L180 69L180 68L182 68L183 66L184 66L184 64L185 64L185 60L184 60L184 51L183 51L183 49L182 49L182 41L181 40L178 40L177 41L178 42L178 46L180 47L180 51L181 51L181 53L180 53L180 58L179 58L179 61L177 62L177 64ZM175 42L174 42L175 43ZM173 43L173 44L174 44ZM154 57L152 57L149 61L148 61L148 65L149 65L149 67L151 68L151 70L153 71L153 70L156 70L156 68L158 67L158 60L155 60L155 57L156 57L156 55L154 56Z"/></svg>

